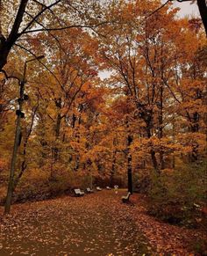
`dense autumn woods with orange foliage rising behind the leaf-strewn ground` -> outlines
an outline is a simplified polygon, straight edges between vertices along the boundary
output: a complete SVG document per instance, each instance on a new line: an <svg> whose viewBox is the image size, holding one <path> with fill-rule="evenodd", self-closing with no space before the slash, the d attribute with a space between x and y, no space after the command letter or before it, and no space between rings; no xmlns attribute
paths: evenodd
<svg viewBox="0 0 207 256"><path fill-rule="evenodd" d="M206 9L180 18L162 4L0 1L6 213L118 184L153 216L206 224Z"/></svg>

